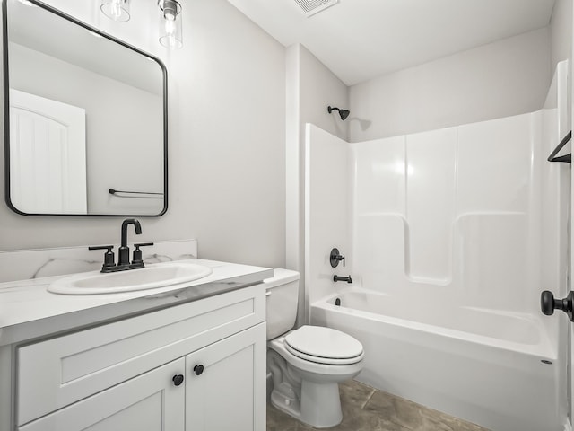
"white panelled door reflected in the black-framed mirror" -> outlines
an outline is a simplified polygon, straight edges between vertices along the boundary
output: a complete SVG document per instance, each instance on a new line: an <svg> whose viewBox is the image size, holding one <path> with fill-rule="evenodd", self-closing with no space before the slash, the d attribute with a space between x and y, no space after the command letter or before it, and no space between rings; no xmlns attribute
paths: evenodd
<svg viewBox="0 0 574 431"><path fill-rule="evenodd" d="M10 90L10 197L27 214L87 214L85 110Z"/></svg>

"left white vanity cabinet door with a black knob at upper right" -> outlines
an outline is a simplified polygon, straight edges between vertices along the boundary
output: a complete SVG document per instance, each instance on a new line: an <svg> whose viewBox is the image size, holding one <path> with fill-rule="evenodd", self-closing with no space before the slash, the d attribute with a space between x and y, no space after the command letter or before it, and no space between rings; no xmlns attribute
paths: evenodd
<svg viewBox="0 0 574 431"><path fill-rule="evenodd" d="M184 431L184 369L182 357L18 430Z"/></svg>

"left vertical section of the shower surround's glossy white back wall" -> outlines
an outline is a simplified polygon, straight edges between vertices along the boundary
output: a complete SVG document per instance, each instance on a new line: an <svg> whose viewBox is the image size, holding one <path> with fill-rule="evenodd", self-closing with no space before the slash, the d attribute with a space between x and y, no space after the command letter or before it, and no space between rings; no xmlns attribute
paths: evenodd
<svg viewBox="0 0 574 431"><path fill-rule="evenodd" d="M397 274L405 272L406 136L350 144L350 148L354 279L362 286L386 280L393 291L404 281Z"/></svg>

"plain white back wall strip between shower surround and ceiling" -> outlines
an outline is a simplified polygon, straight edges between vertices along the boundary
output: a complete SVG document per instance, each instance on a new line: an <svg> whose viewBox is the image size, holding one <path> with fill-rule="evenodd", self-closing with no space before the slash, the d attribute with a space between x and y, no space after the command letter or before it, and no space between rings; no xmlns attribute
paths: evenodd
<svg viewBox="0 0 574 431"><path fill-rule="evenodd" d="M551 82L550 31L530 31L350 88L350 141L539 110Z"/></svg>

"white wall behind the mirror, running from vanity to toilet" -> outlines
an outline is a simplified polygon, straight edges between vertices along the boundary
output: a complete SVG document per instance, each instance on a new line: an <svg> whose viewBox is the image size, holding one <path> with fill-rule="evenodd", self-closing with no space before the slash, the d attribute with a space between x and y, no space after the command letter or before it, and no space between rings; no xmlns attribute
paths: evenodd
<svg viewBox="0 0 574 431"><path fill-rule="evenodd" d="M173 52L157 41L156 2L132 2L124 24L102 18L98 2L47 3L168 67L169 208L141 220L138 240L196 238L206 259L283 267L283 46L225 0L185 2L185 45ZM118 217L26 217L2 206L0 220L0 250L119 242Z"/></svg>

